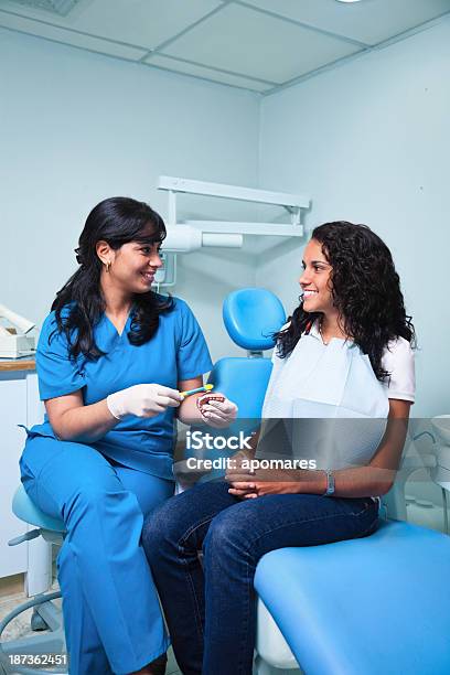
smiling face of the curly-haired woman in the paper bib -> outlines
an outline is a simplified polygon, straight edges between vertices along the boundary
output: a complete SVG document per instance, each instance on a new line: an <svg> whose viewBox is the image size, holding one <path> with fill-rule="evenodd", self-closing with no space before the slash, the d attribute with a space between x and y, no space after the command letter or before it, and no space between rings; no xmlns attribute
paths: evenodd
<svg viewBox="0 0 450 675"><path fill-rule="evenodd" d="M299 283L303 291L303 309L306 312L324 312L333 310L332 267L322 253L322 245L311 239L303 253L303 274Z"/></svg>

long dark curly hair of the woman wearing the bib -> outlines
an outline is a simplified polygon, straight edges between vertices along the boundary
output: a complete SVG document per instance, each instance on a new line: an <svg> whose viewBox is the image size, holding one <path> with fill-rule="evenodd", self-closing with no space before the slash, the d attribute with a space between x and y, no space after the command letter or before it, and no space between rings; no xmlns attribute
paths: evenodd
<svg viewBox="0 0 450 675"><path fill-rule="evenodd" d="M322 245L330 262L333 303L344 332L367 354L376 377L384 381L389 373L382 367L387 343L405 338L415 346L411 317L405 311L400 280L386 244L366 225L346 221L315 227L311 238ZM276 333L281 358L292 353L302 333L322 312L307 312L300 306L290 317L290 324Z"/></svg>

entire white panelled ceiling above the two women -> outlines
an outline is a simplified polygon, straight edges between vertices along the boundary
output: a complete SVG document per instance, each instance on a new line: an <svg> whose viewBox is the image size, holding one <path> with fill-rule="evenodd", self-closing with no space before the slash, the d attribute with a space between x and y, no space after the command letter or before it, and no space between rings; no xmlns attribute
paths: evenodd
<svg viewBox="0 0 450 675"><path fill-rule="evenodd" d="M0 0L0 26L265 93L448 12L450 0Z"/></svg>

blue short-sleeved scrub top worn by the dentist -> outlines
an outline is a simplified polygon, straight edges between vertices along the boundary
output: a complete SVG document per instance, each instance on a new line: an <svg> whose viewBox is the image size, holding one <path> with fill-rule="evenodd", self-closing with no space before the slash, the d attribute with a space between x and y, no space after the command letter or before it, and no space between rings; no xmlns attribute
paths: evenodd
<svg viewBox="0 0 450 675"><path fill-rule="evenodd" d="M55 312L51 312L36 351L41 400L82 390L84 404L90 405L136 384L157 383L175 389L178 382L211 371L213 364L194 314L183 300L173 301L173 309L160 314L156 334L139 346L128 340L132 310L121 335L103 314L94 329L97 346L105 352L97 361L84 355L76 361L69 358L66 336L57 332ZM173 480L174 411L168 408L151 418L129 415L89 444L126 467ZM34 426L29 435L56 438L47 415L44 424Z"/></svg>

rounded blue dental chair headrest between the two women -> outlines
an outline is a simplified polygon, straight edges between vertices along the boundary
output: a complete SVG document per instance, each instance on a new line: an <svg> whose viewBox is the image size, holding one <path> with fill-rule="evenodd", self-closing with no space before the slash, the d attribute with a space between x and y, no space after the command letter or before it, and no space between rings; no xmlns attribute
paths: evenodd
<svg viewBox="0 0 450 675"><path fill-rule="evenodd" d="M228 335L245 350L271 350L274 333L286 322L280 300L265 288L243 288L224 300L223 318Z"/></svg>

